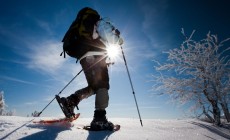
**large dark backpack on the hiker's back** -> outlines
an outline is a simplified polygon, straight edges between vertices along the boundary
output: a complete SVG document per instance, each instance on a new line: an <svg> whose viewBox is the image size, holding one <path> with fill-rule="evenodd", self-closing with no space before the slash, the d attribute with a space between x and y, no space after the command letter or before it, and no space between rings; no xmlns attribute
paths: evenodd
<svg viewBox="0 0 230 140"><path fill-rule="evenodd" d="M84 41L92 41L94 25L100 19L100 15L92 8L86 7L79 11L76 19L70 25L62 39L64 58L65 53L69 56L80 59L88 50Z"/></svg>

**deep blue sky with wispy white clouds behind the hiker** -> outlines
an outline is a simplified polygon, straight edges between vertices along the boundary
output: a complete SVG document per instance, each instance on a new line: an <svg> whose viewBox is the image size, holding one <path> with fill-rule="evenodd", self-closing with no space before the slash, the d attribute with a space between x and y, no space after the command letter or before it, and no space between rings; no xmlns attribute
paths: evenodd
<svg viewBox="0 0 230 140"><path fill-rule="evenodd" d="M109 17L124 38L124 52L140 113L145 118L181 118L187 110L156 96L153 59L165 61L162 51L179 47L181 28L188 35L196 30L202 39L211 31L220 40L230 37L228 0L8 0L0 2L0 91L8 110L26 116L41 111L81 70L75 60L64 59L62 37L83 7ZM122 59L110 70L108 117L138 118ZM79 75L61 96L85 87ZM92 117L94 96L79 105L83 117ZM54 101L42 116L60 116Z"/></svg>

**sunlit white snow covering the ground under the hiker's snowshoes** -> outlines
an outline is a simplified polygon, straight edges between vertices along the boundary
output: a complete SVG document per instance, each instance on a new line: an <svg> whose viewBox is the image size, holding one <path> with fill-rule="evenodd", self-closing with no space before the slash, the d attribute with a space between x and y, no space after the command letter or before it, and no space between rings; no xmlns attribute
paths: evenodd
<svg viewBox="0 0 230 140"><path fill-rule="evenodd" d="M196 119L157 120L144 119L143 127L138 119L111 118L120 124L117 132L90 132L79 129L91 122L90 118L78 118L72 123L42 125L33 121L55 117L0 116L1 140L227 140L230 139L229 126L216 127Z"/></svg>

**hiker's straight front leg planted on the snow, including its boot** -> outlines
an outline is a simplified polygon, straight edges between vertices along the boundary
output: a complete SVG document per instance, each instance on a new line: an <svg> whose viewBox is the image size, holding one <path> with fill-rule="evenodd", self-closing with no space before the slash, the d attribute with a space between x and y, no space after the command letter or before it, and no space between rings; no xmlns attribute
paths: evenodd
<svg viewBox="0 0 230 140"><path fill-rule="evenodd" d="M93 130L112 129L113 124L107 120L106 108L109 104L109 75L105 59L97 57L97 64L94 66L92 87L95 91L94 118L90 124Z"/></svg>

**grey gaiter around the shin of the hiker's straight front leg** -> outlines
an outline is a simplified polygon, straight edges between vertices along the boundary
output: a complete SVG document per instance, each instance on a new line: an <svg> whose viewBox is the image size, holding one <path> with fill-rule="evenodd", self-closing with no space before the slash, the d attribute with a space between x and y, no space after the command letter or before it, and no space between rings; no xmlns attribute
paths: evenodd
<svg viewBox="0 0 230 140"><path fill-rule="evenodd" d="M96 91L95 108L96 110L102 110L109 105L109 93L108 89L100 88Z"/></svg>

